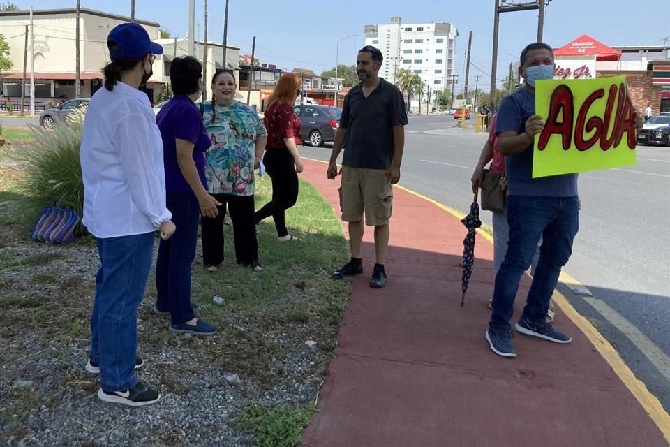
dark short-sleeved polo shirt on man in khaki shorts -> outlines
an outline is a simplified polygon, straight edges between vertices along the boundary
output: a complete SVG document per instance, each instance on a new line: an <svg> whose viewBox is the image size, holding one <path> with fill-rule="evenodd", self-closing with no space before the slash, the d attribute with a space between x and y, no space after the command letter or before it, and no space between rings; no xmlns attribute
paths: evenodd
<svg viewBox="0 0 670 447"><path fill-rule="evenodd" d="M347 129L342 164L350 168L389 169L393 161L393 128L407 124L400 90L380 78L366 98L362 83L344 98L340 126Z"/></svg>

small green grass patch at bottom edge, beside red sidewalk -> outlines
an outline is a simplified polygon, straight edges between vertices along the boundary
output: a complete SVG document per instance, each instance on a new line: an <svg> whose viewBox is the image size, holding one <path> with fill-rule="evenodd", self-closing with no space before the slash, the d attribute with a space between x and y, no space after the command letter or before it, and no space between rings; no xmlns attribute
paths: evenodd
<svg viewBox="0 0 670 447"><path fill-rule="evenodd" d="M244 408L235 427L253 434L258 447L294 447L314 411L314 404L304 409L251 404Z"/></svg>

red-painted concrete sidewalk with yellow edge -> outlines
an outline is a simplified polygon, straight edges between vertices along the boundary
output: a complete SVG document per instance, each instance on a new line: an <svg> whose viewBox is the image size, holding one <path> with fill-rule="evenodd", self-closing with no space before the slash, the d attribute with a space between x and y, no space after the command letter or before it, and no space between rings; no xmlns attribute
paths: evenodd
<svg viewBox="0 0 670 447"><path fill-rule="evenodd" d="M326 178L325 163L304 166L301 177L338 211L339 179ZM554 324L572 336L571 344L515 334L516 359L489 350L484 332L493 247L478 235L475 271L461 307L465 235L449 212L394 189L389 282L378 290L368 286L375 260L373 231L366 228L364 274L352 280L336 358L303 444L668 446L667 413L643 406L561 309ZM323 267L334 270L346 261ZM515 318L529 286L524 279Z"/></svg>

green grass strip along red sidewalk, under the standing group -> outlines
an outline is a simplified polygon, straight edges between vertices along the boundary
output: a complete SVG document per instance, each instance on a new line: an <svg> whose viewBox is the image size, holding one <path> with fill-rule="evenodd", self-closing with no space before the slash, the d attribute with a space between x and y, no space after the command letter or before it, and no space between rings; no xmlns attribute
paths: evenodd
<svg viewBox="0 0 670 447"><path fill-rule="evenodd" d="M257 186L255 201L260 208L271 196L271 182L266 177ZM334 281L326 273L348 258L347 243L341 221L313 186L301 182L297 205L288 210L286 223L299 240L278 242L271 218L258 225L261 272L237 265L230 226L224 228L225 261L218 270L207 272L201 258L193 265L193 301L206 307L200 312L202 318L215 325L223 339L208 346L207 357L223 361L225 369L264 388L283 376L275 365L285 358L285 347L259 337L256 331L278 335L288 326L293 327L289 332L296 333L311 328L322 337L315 362L325 368L350 292L349 281ZM155 279L149 279L147 295L151 302ZM225 304L212 304L214 295L221 295ZM239 330L240 326L253 329Z"/></svg>

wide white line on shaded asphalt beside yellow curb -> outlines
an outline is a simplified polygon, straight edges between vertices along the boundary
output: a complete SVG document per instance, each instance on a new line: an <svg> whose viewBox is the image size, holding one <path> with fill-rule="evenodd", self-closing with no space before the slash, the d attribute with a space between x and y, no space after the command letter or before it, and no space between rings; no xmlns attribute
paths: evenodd
<svg viewBox="0 0 670 447"><path fill-rule="evenodd" d="M644 335L633 323L624 318L598 298L583 297L593 309L597 310L607 321L612 323L618 330L623 332L631 342L640 350L641 353L659 370L661 374L670 380L670 358L665 355L661 349L654 344L646 335Z"/></svg>

